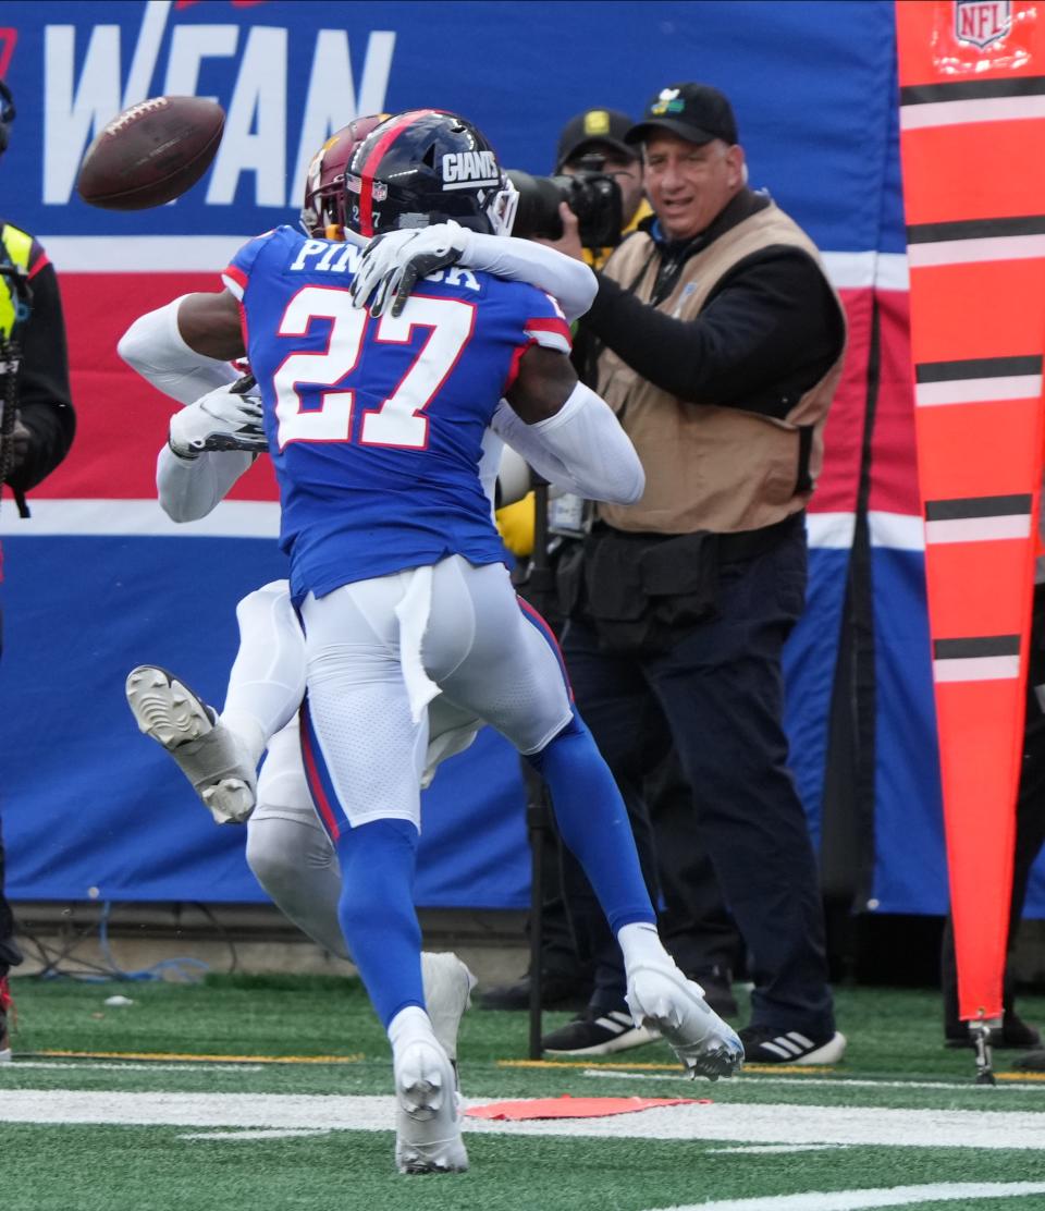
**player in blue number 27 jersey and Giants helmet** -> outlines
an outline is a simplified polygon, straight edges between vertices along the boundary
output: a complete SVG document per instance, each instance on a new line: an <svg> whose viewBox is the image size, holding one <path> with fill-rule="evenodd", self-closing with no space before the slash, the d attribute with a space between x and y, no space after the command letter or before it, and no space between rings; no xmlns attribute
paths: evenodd
<svg viewBox="0 0 1045 1211"><path fill-rule="evenodd" d="M349 168L360 235L510 225L493 149L455 115L390 119ZM436 695L492 723L544 774L621 945L636 1018L710 1077L735 1071L742 1049L660 945L620 794L546 627L515 597L478 477L503 396L512 423L567 467L602 461L595 495L641 494L635 450L578 384L547 295L458 269L374 322L346 289L357 260L277 229L234 258L225 292L182 299L177 326L197 354L246 352L258 380L305 631L305 767L343 869L341 929L392 1044L397 1163L459 1171L453 1073L424 1009L412 894Z"/></svg>

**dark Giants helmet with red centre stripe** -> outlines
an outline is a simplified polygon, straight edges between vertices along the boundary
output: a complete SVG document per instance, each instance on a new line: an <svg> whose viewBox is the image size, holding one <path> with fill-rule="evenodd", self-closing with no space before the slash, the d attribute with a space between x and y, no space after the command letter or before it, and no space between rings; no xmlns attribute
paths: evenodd
<svg viewBox="0 0 1045 1211"><path fill-rule="evenodd" d="M471 122L437 109L397 114L352 153L346 223L362 236L453 219L510 235L518 194Z"/></svg>

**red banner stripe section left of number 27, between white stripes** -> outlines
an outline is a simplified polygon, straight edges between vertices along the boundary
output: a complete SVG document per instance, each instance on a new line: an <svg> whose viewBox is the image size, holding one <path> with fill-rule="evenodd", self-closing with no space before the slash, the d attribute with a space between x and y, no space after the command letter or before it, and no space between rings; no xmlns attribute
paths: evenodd
<svg viewBox="0 0 1045 1211"><path fill-rule="evenodd" d="M154 499L156 454L178 404L136 374L116 343L139 315L179 294L213 291L214 274L62 274L61 281L76 441L33 499ZM277 500L269 459L258 459L229 499Z"/></svg>

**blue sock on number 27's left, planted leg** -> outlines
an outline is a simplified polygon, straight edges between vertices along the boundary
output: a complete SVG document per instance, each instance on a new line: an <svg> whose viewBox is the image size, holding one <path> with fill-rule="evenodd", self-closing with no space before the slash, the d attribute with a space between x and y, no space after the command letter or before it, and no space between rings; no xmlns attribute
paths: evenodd
<svg viewBox="0 0 1045 1211"><path fill-rule="evenodd" d="M414 909L417 849L418 831L407 820L373 820L338 838L338 919L385 1028L407 1005L425 1008Z"/></svg>

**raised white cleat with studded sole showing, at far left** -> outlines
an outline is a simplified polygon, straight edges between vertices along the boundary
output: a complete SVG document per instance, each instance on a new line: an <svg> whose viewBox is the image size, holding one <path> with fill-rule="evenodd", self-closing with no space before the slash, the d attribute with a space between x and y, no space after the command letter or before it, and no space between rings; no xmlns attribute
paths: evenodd
<svg viewBox="0 0 1045 1211"><path fill-rule="evenodd" d="M257 771L214 708L156 665L131 670L127 704L138 728L174 758L214 820L242 823L254 810Z"/></svg>

